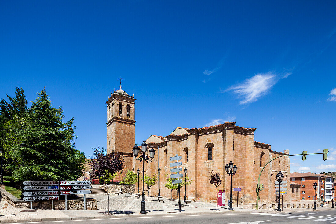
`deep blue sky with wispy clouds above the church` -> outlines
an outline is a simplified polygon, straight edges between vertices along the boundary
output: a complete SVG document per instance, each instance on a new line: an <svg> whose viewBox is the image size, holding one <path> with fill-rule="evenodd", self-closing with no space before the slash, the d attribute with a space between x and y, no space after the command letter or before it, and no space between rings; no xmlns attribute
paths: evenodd
<svg viewBox="0 0 336 224"><path fill-rule="evenodd" d="M135 94L136 142L236 121L291 154L291 172L336 171L336 2L1 1L0 98L44 87L76 148L106 148L106 100ZM333 154L333 155L332 155ZM296 159L296 160L294 160ZM334 159L334 160L333 160Z"/></svg>

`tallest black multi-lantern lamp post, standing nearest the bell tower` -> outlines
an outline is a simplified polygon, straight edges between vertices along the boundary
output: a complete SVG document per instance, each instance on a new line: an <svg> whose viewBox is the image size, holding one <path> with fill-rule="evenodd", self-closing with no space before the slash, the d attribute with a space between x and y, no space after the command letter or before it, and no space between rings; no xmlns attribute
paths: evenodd
<svg viewBox="0 0 336 224"><path fill-rule="evenodd" d="M145 210L145 161L148 162L152 162L154 155L155 155L155 150L152 149L149 150L149 157L145 154L147 152L147 144L146 141L143 141L143 143L141 144L141 151L142 151L142 156L137 157L138 153L139 153L139 147L137 144L135 144L135 146L133 147L133 153L135 156L135 159L143 161L143 173L142 173L142 200L141 200L141 214L145 214L146 210Z"/></svg>

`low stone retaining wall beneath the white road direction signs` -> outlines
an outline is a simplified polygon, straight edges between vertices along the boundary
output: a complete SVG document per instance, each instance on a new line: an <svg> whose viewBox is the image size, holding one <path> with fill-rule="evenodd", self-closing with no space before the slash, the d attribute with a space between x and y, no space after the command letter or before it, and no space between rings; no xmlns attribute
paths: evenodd
<svg viewBox="0 0 336 224"><path fill-rule="evenodd" d="M1 197L14 208L30 208L30 202L17 199L8 191L0 188ZM68 210L84 210L84 198L68 199ZM33 209L51 209L51 201L33 201ZM65 200L54 201L54 209L65 210ZM97 210L97 199L86 199L87 210Z"/></svg>

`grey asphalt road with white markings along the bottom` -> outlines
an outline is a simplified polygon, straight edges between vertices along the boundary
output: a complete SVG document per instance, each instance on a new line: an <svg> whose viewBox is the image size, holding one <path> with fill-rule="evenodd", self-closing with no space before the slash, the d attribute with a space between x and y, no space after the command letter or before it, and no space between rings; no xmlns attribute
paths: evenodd
<svg viewBox="0 0 336 224"><path fill-rule="evenodd" d="M41 222L35 222L41 223ZM211 214L211 215L175 215L175 216L155 216L155 217L130 217L96 220L76 220L43 222L48 224L105 224L105 223L181 223L181 224L258 224L258 223L336 223L336 209L317 212L293 212L293 213L236 213L236 214Z"/></svg>

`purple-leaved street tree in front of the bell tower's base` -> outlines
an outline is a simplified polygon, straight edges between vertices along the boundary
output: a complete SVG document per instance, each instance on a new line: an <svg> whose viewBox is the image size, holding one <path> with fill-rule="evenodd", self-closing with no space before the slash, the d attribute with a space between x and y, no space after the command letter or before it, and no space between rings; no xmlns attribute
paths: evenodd
<svg viewBox="0 0 336 224"><path fill-rule="evenodd" d="M91 175L94 177L102 177L104 180L111 178L111 175L116 172L122 171L125 166L123 164L124 159L114 153L107 154L104 148L100 150L92 148L93 153L97 159L90 159L89 164L91 166ZM108 215L110 215L110 201L109 201L109 184L107 184L107 203L108 203Z"/></svg>

